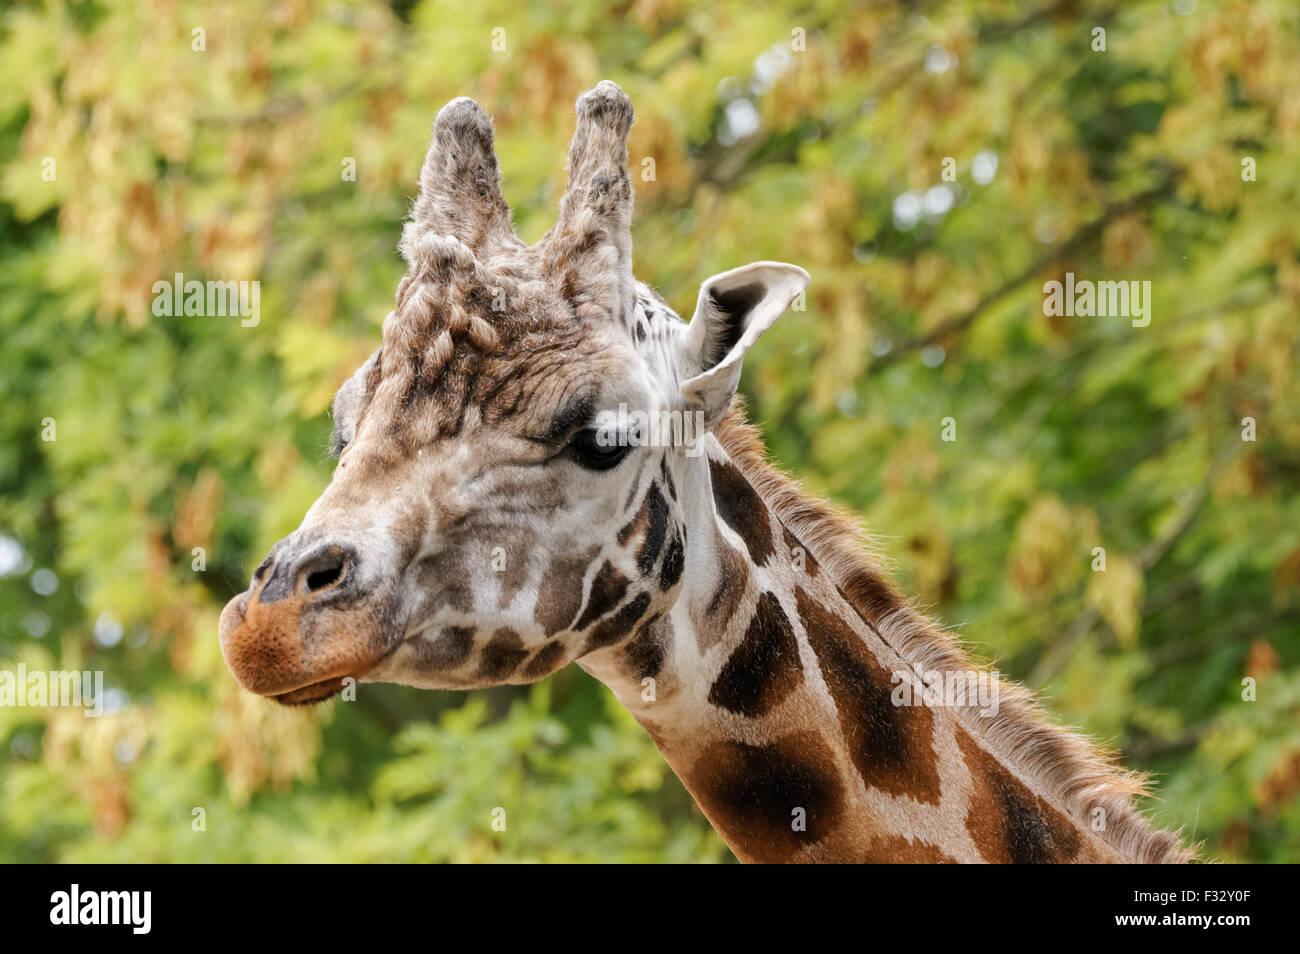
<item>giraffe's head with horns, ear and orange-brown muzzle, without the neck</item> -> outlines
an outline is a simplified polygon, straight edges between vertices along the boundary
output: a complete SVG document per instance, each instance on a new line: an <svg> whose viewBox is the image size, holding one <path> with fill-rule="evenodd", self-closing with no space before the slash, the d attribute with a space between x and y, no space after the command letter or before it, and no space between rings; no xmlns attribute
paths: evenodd
<svg viewBox="0 0 1300 954"><path fill-rule="evenodd" d="M526 246L490 120L468 99L438 113L396 308L334 399L333 480L221 616L247 689L528 682L677 599L693 439L807 274L715 276L681 322L632 274L632 116L611 82L577 100L558 222Z"/></svg>

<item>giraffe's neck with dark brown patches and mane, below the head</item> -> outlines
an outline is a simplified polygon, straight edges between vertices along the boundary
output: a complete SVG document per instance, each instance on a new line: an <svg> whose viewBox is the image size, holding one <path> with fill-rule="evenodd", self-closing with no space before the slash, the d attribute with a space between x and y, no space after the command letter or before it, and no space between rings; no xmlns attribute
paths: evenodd
<svg viewBox="0 0 1300 954"><path fill-rule="evenodd" d="M916 632L926 624L887 582L836 572L835 545L790 526L751 478L712 438L707 459L684 464L685 591L627 643L582 660L738 858L1176 857L1176 838L1131 807L1136 785L1034 719L1024 690L985 681L965 706L926 703L919 662L956 663L974 686L972 664ZM936 641L930 652L915 651L922 636ZM989 715L991 703L1011 711Z"/></svg>

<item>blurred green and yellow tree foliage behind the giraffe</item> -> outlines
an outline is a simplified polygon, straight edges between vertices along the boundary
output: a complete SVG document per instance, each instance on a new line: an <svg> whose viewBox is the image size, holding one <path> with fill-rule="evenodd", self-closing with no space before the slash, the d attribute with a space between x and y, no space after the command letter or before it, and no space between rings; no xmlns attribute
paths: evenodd
<svg viewBox="0 0 1300 954"><path fill-rule="evenodd" d="M221 604L329 480L328 403L378 341L438 107L495 116L534 240L573 99L606 77L637 108L633 172L655 160L641 278L689 315L746 261L814 276L746 363L774 455L978 652L1154 772L1161 824L1225 860L1300 858L1290 0L3 17L0 667L104 669L114 712L0 708L0 860L729 858L576 668L300 712L217 649ZM1067 270L1150 281L1150 326L1044 317ZM261 324L155 318L174 272L260 279Z"/></svg>

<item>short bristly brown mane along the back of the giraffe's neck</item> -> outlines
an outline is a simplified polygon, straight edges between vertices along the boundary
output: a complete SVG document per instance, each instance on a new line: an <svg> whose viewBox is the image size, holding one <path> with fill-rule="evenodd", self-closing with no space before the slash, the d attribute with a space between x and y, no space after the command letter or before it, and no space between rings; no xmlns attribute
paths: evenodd
<svg viewBox="0 0 1300 954"><path fill-rule="evenodd" d="M714 433L777 520L905 663L922 672L988 669L898 594L884 560L853 517L807 495L767 460L740 396ZM1087 824L1089 812L1100 807L1105 827L1097 834L1123 857L1144 864L1196 860L1196 850L1183 846L1179 832L1153 828L1134 805L1134 798L1150 794L1147 775L1124 769L1113 751L1049 721L1026 686L998 677L998 693L993 716L980 715L976 704L954 707L962 727L1058 799L1075 821Z"/></svg>

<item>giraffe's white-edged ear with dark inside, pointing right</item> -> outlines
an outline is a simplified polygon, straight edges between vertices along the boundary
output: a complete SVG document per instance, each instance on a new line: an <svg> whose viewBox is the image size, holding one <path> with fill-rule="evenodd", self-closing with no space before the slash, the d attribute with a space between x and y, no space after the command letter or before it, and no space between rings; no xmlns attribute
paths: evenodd
<svg viewBox="0 0 1300 954"><path fill-rule="evenodd" d="M681 395L688 409L703 411L706 428L727 413L745 354L807 285L809 273L797 265L755 261L699 286L681 343Z"/></svg>

